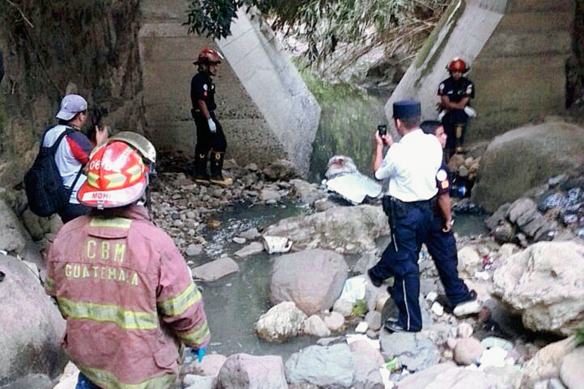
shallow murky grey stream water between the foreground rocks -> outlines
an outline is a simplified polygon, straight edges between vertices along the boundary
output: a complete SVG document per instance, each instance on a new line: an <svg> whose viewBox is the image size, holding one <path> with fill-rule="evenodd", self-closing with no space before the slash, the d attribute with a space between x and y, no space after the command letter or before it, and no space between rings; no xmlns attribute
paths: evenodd
<svg viewBox="0 0 584 389"><path fill-rule="evenodd" d="M252 227L258 230L276 223L278 220L310 213L304 205L288 202L286 205L258 205L248 208L234 205L227 211L217 213L214 219L221 220L219 229L207 229L204 233L208 245L197 258L197 262L214 260L228 255L239 265L239 272L225 276L214 282L197 282L203 289L203 300L208 323L212 332L208 353L232 355L248 353L252 355L280 355L286 360L292 353L314 344L311 337L296 337L283 344L271 344L256 337L254 329L258 318L265 313L270 303L269 282L272 275L272 258L265 252L238 259L233 254L244 247L232 241L234 236ZM464 236L484 233L484 215L464 214L457 216L455 231ZM382 238L378 246L385 248L387 239ZM346 255L350 268L360 255Z"/></svg>

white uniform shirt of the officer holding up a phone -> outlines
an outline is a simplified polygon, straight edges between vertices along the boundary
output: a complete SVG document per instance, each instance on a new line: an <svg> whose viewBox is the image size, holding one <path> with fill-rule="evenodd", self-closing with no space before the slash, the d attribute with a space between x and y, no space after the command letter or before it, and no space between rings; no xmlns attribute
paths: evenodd
<svg viewBox="0 0 584 389"><path fill-rule="evenodd" d="M388 194L404 202L429 200L437 193L442 146L432 134L415 129L387 150L375 178L390 178Z"/></svg>

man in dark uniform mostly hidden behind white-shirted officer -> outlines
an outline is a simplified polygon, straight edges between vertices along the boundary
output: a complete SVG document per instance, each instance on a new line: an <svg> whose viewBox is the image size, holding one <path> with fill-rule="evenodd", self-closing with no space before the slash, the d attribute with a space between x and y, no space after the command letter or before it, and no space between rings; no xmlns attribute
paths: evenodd
<svg viewBox="0 0 584 389"><path fill-rule="evenodd" d="M446 145L447 135L439 121L425 121L420 127L425 134L435 135L442 147ZM450 178L444 162L436 174L436 186L438 188L436 209L434 209L432 225L426 237L426 247L436 264L444 292L451 307L454 307L454 313L477 313L481 309L476 302L477 293L474 290L468 290L464 281L458 277L458 253L452 230L454 222L450 208Z"/></svg>

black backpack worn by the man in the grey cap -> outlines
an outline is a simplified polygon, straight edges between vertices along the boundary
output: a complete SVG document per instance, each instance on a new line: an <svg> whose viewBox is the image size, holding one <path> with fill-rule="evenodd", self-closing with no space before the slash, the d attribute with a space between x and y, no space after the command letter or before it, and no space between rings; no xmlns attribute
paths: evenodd
<svg viewBox="0 0 584 389"><path fill-rule="evenodd" d="M25 174L25 191L29 201L30 211L38 216L51 216L53 213L64 211L69 204L69 197L75 188L75 184L81 176L81 169L75 177L71 188L65 188L61 173L55 162L55 152L65 135L72 134L73 130L67 128L51 147L43 146L44 137L47 135L49 127L44 131L40 141L39 155L34 160L33 166Z"/></svg>

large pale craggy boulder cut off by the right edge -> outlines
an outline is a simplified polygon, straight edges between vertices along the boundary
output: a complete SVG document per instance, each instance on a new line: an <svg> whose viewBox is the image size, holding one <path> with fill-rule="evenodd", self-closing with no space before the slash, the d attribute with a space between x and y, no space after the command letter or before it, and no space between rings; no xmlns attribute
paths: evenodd
<svg viewBox="0 0 584 389"><path fill-rule="evenodd" d="M510 255L493 274L493 292L533 331L573 334L584 320L584 245L539 242Z"/></svg>

